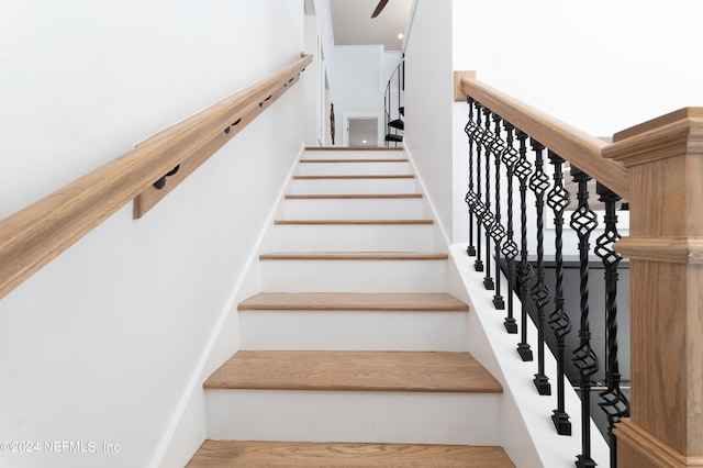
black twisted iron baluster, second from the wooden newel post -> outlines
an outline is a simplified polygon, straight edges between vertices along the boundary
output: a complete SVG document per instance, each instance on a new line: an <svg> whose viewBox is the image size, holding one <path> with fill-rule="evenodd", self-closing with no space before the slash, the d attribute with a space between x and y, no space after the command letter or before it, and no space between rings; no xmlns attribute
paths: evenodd
<svg viewBox="0 0 703 468"><path fill-rule="evenodd" d="M598 226L595 213L589 208L588 181L591 177L571 166L573 181L579 185L579 208L571 214L570 226L579 236L579 276L581 296L581 327L579 347L573 352L573 364L579 369L581 386L581 455L577 457L579 468L594 467L591 458L591 376L598 371L598 358L591 348L589 325L589 238Z"/></svg>

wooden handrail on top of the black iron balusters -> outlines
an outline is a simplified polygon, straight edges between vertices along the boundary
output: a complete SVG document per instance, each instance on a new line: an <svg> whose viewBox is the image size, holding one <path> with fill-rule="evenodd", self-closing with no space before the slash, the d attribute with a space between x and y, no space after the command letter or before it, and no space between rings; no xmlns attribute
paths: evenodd
<svg viewBox="0 0 703 468"><path fill-rule="evenodd" d="M629 199L629 171L622 163L603 157L607 143L479 80L455 76L460 80L465 96L476 99L624 199Z"/></svg>

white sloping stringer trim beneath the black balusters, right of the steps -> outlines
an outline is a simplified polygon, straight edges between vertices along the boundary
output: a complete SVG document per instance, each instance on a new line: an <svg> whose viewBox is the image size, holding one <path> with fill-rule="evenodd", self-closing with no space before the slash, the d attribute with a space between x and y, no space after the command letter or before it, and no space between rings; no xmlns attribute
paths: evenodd
<svg viewBox="0 0 703 468"><path fill-rule="evenodd" d="M411 152L404 152L410 160L412 171L424 194L431 218L437 220L435 204L424 189L423 178L417 172ZM466 243L449 243L448 233L440 223L435 223L439 238L435 241L436 249L447 249L453 267L447 271L448 292L469 304L469 352L503 386L501 402L501 446L513 460L520 460L521 467L557 467L570 466L581 452L581 412L580 399L566 381L566 410L571 419L573 435L557 435L550 421L551 411L556 408L556 359L545 349L545 369L549 377L555 395L537 394L532 375L534 363L523 363L516 352L518 335L505 333L503 326L504 311L495 311L492 303L494 291L488 291L482 285L482 272L472 268L472 259L466 254ZM510 293L505 278L501 277L502 290ZM514 294L515 304L520 299ZM502 313L501 313L502 312ZM537 330L528 323L528 342L535 344ZM534 349L536 358L536 349ZM566 379L566 377L565 377ZM601 466L607 466L610 450L595 423L591 420L591 450L593 458Z"/></svg>

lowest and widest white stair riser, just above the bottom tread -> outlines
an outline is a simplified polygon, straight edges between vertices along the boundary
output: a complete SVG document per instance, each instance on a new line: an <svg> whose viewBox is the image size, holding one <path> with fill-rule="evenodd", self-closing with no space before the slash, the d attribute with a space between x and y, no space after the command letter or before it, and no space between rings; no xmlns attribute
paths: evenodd
<svg viewBox="0 0 703 468"><path fill-rule="evenodd" d="M500 445L500 395L208 390L207 437Z"/></svg>

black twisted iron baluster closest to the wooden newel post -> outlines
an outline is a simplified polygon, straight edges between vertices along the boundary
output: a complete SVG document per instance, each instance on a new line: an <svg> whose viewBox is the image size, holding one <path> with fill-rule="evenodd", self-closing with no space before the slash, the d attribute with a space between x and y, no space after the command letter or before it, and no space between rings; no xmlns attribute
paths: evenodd
<svg viewBox="0 0 703 468"><path fill-rule="evenodd" d="M622 256L613 250L613 243L621 236L617 232L617 214L615 203L621 197L607 187L598 183L596 192L605 203L605 232L595 241L595 255L605 266L605 382L606 389L600 393L603 400L599 406L607 415L607 436L611 446L611 468L617 466L617 441L613 435L613 426L621 417L629 416L629 402L620 388L621 375L617 360L617 266Z"/></svg>

